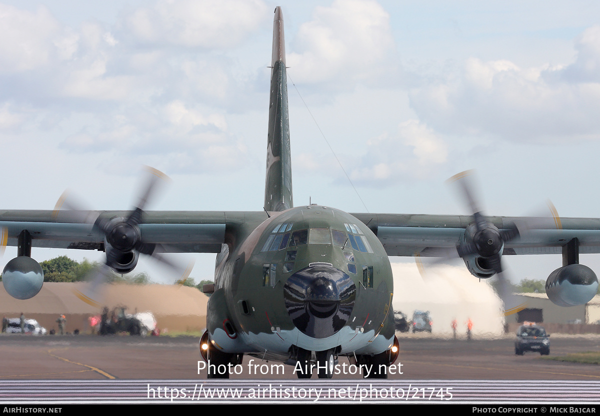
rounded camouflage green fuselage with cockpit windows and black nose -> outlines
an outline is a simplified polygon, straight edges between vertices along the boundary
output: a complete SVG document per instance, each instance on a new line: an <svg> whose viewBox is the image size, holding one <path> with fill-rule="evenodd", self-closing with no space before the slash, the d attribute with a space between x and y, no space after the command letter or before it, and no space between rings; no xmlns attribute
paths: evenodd
<svg viewBox="0 0 600 416"><path fill-rule="evenodd" d="M217 263L208 330L223 352L285 361L292 345L339 354L391 347L388 255L348 213L315 205L272 213L241 243L224 247ZM307 273L321 283L305 283Z"/></svg>

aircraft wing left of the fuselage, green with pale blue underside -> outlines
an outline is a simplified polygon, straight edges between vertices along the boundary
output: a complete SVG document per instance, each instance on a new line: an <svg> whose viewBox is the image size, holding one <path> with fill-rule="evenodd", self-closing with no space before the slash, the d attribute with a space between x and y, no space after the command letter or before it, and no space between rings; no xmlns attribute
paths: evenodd
<svg viewBox="0 0 600 416"><path fill-rule="evenodd" d="M127 217L125 211L91 211L89 218ZM145 212L139 224L144 243L160 246L161 252L218 253L226 232L250 232L267 218L265 212ZM102 250L104 234L94 224L60 222L49 210L0 212L2 243L17 246L27 230L32 247Z"/></svg>

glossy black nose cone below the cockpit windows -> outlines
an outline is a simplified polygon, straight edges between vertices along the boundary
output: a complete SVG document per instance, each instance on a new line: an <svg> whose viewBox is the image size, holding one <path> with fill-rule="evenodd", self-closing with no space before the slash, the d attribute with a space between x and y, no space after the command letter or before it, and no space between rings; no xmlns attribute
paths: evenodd
<svg viewBox="0 0 600 416"><path fill-rule="evenodd" d="M341 270L317 264L290 276L283 294L287 313L296 328L322 339L337 333L350 318L356 286Z"/></svg>

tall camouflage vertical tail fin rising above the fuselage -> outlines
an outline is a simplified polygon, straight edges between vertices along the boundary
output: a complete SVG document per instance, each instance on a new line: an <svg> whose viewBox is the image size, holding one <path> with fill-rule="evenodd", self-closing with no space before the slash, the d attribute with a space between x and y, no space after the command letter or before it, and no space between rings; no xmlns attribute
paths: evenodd
<svg viewBox="0 0 600 416"><path fill-rule="evenodd" d="M293 201L290 123L287 114L286 48L283 37L283 14L280 7L275 8L273 20L271 66L265 210L283 211L293 207Z"/></svg>

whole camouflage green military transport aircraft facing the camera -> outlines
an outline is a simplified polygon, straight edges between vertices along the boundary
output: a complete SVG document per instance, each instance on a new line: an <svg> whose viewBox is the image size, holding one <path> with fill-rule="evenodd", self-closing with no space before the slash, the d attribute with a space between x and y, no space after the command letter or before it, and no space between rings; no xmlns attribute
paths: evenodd
<svg viewBox="0 0 600 416"><path fill-rule="evenodd" d="M43 273L31 248L106 252L104 270L127 273L140 254L217 253L202 356L211 378L243 355L277 360L331 378L338 357L385 378L398 355L394 292L388 256L464 260L480 279L503 272L502 255L563 255L548 277L547 293L562 306L581 305L598 279L579 253L600 252L600 219L556 218L554 227L532 218L484 216L463 183L469 216L350 214L329 206L294 207L287 113L286 58L281 9L275 9L265 204L254 212L145 212L161 173L151 171L136 208L123 211L0 212L2 243L18 248L2 281L18 299L35 296ZM462 177L458 178L459 181ZM100 277L103 272L99 273ZM400 288L401 290L401 288ZM88 299L89 300L89 299ZM92 299L93 300L93 299Z"/></svg>

